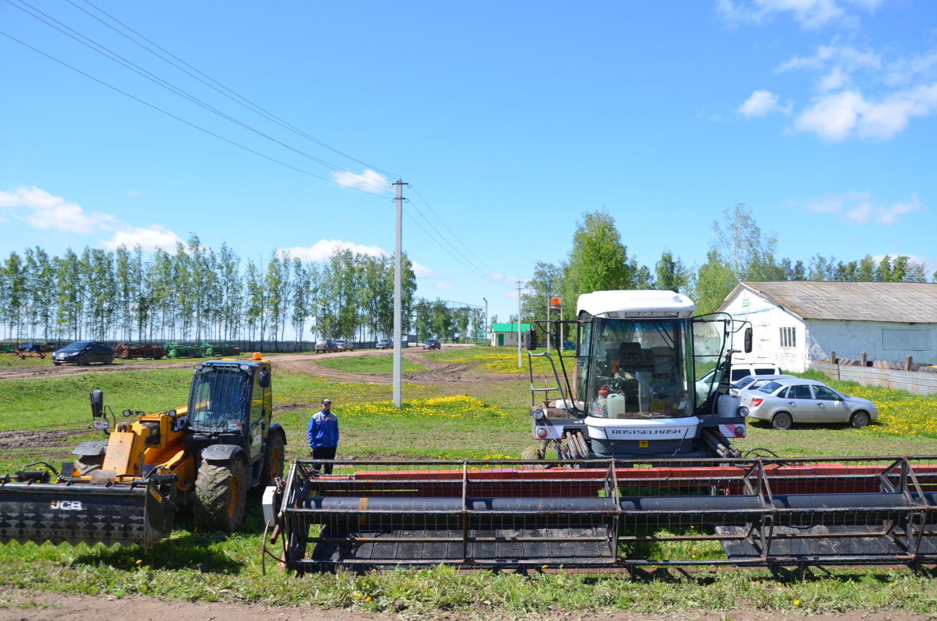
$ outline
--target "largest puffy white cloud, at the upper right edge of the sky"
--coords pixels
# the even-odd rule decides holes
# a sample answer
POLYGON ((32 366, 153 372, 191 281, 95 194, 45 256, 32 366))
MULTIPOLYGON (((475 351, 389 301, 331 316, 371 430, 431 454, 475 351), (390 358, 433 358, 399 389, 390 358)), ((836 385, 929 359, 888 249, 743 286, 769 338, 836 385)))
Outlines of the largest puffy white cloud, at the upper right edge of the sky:
POLYGON ((851 136, 888 140, 908 127, 913 116, 935 111, 937 83, 898 91, 877 101, 850 90, 812 98, 811 106, 796 118, 794 127, 832 142, 851 136))

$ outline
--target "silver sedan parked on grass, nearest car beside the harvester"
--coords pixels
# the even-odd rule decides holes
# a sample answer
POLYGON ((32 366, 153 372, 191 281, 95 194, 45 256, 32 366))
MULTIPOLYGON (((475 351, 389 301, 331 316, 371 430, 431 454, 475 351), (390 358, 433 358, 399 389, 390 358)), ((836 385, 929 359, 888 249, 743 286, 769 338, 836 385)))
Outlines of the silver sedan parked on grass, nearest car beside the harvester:
POLYGON ((739 393, 748 416, 787 430, 795 423, 849 423, 865 427, 878 420, 878 407, 868 399, 843 394, 816 380, 771 380, 755 390, 739 393))

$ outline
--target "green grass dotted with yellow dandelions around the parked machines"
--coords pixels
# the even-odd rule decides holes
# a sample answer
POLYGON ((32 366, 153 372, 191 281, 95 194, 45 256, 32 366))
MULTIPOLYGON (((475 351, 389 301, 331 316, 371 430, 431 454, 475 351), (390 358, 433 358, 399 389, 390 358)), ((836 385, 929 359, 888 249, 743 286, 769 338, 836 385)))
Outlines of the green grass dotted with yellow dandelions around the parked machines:
MULTIPOLYGON (((502 381, 501 371, 486 366, 504 361, 516 365, 513 352, 476 347, 425 356, 482 362, 477 371, 498 373, 498 381, 457 387, 408 384, 404 386, 405 407, 398 411, 391 405, 392 388, 388 385, 336 382, 275 371, 275 418, 288 432, 288 458, 307 454, 306 424, 323 397, 335 402, 340 420, 339 458, 503 459, 519 457, 524 447, 533 444, 526 378, 502 381)), ((369 357, 389 359, 346 359, 369 357)), ((71 429, 90 434, 90 390, 103 388, 105 401, 118 413, 124 407, 156 411, 185 402, 190 377, 189 369, 163 369, 5 381, 0 384, 0 431, 71 429)), ((788 432, 754 424, 749 426, 749 437, 738 444, 768 447, 787 456, 937 453, 937 439, 929 426, 929 421, 937 417, 934 398, 917 398, 884 388, 862 388, 866 392, 860 393, 855 386, 834 386, 879 402, 880 424, 862 430, 811 426, 788 432)), ((12 459, 3 462, 12 470, 12 466, 36 458, 60 461, 71 446, 84 438, 75 435, 51 446, 4 449, 3 456, 12 459)), ((629 576, 565 572, 463 574, 451 568, 427 568, 302 578, 268 570, 263 576, 261 531, 260 508, 255 499, 237 533, 196 533, 184 511, 171 538, 146 554, 136 548, 10 543, 0 546, 0 584, 113 597, 150 594, 160 598, 342 607, 361 612, 393 613, 392 606, 402 602, 406 606, 403 615, 412 617, 447 611, 499 617, 625 610, 673 611, 692 616, 736 608, 781 613, 932 613, 937 602, 937 573, 923 569, 825 568, 816 573, 702 570, 689 574, 659 569, 629 576)), ((718 546, 708 543, 692 545, 699 545, 692 552, 701 557, 721 553, 718 546)))

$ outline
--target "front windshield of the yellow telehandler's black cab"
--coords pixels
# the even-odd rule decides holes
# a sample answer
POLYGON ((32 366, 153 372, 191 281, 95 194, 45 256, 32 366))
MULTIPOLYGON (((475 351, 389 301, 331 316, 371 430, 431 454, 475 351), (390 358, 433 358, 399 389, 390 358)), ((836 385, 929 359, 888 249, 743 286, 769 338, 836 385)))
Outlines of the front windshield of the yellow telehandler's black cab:
POLYGON ((231 365, 206 366, 192 378, 189 428, 201 431, 227 429, 229 420, 240 420, 249 396, 250 372, 231 365))

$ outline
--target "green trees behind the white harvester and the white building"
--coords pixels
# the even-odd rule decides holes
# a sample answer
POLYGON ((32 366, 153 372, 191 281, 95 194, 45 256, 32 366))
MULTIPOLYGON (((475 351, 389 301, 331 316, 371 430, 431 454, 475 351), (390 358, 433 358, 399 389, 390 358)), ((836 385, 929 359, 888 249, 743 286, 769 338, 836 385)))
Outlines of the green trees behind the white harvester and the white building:
MULTIPOLYGON (((927 282, 926 266, 909 257, 870 254, 841 261, 821 253, 805 263, 778 257, 778 238, 763 233, 744 203, 723 212, 712 223, 706 262, 686 265, 664 249, 653 269, 638 263, 622 242, 615 219, 605 210, 587 212, 576 223, 572 248, 558 264, 537 262, 522 295, 523 321, 544 319, 547 299, 564 300, 565 319, 573 319, 580 294, 613 289, 659 289, 688 295, 697 314, 713 312, 740 280, 845 280, 927 282)), ((930 275, 937 282, 937 272, 930 275)), ((516 321, 516 315, 511 316, 516 321)))

